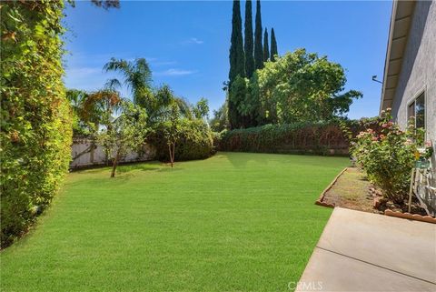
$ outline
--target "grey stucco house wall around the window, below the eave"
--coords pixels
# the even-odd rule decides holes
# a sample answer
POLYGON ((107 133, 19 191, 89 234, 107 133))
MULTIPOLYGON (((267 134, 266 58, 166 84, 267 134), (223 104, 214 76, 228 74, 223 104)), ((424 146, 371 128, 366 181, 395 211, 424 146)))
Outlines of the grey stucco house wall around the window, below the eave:
MULTIPOLYGON (((422 91, 426 98, 426 139, 436 144, 436 2, 417 1, 401 74, 392 104, 392 116, 407 126, 407 107, 422 91)), ((434 161, 433 161, 434 162, 434 161)))

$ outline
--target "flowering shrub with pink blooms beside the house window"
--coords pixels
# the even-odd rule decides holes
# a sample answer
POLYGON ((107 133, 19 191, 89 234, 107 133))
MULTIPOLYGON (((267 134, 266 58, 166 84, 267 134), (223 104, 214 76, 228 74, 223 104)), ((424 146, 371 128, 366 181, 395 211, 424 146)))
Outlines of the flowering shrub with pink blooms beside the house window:
POLYGON ((352 155, 383 196, 402 204, 409 192, 411 168, 417 152, 417 131, 401 131, 391 121, 390 111, 382 113, 379 129, 362 131, 352 143, 352 155))

